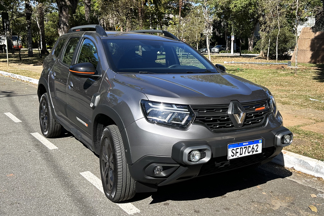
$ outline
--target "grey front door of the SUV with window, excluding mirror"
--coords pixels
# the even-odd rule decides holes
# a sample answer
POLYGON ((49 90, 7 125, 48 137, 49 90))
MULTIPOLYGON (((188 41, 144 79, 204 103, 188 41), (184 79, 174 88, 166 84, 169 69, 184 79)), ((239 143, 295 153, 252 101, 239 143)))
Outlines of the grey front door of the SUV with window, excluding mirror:
MULTIPOLYGON (((75 64, 90 62, 99 74, 100 64, 95 44, 88 38, 82 42, 75 64)), ((101 76, 102 77, 102 76, 101 76)), ((90 107, 92 96, 99 91, 102 78, 80 78, 70 73, 67 84, 67 114, 68 118, 79 126, 88 137, 91 135, 92 108, 90 107)))

